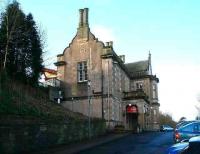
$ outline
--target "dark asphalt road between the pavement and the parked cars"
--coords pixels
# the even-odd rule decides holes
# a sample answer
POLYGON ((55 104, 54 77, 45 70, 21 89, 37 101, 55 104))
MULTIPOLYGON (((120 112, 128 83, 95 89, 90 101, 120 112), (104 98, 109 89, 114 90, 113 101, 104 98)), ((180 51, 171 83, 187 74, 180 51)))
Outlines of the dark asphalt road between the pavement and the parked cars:
POLYGON ((165 154, 172 144, 172 132, 131 134, 79 154, 165 154))

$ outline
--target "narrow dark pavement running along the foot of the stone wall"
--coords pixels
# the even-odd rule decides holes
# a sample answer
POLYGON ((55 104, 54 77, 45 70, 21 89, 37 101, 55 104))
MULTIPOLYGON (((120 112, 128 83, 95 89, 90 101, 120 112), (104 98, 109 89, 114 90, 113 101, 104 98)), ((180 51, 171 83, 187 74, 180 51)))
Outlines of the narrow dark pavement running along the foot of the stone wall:
POLYGON ((105 144, 125 136, 128 136, 130 133, 121 133, 121 134, 106 134, 104 136, 100 136, 97 138, 92 138, 87 141, 74 143, 70 145, 62 145, 60 147, 49 148, 48 150, 37 152, 37 154, 75 154, 79 153, 80 151, 84 151, 101 144, 105 144))

